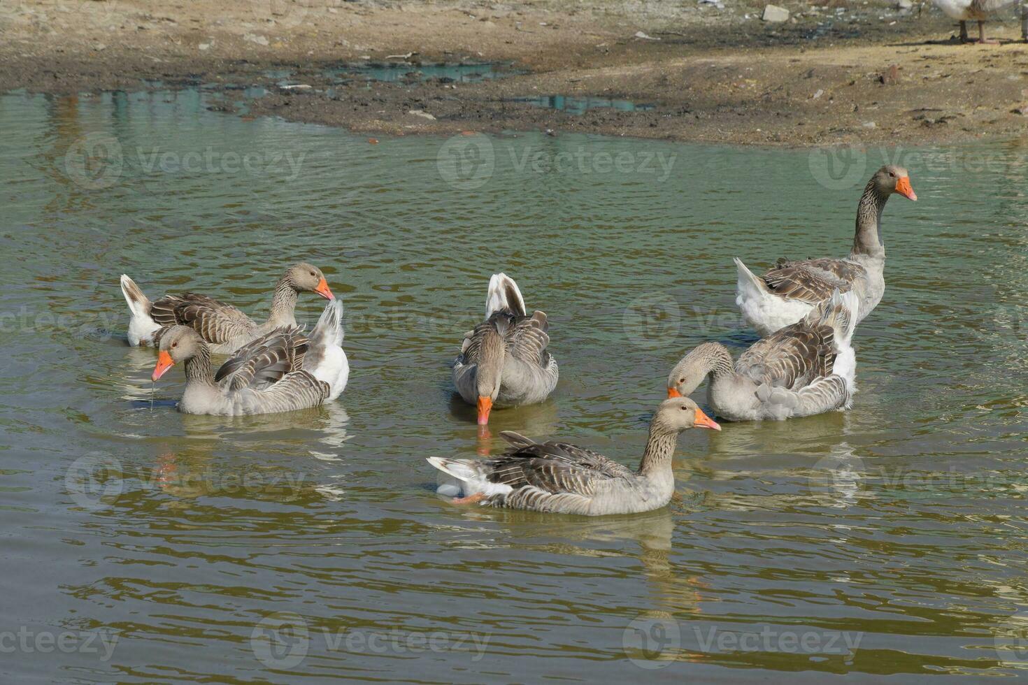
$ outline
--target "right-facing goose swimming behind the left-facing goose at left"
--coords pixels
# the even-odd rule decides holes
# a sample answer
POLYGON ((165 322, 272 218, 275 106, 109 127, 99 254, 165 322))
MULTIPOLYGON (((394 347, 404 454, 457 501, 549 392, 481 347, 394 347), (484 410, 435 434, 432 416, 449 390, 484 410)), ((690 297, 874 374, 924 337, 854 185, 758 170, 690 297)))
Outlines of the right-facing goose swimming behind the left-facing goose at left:
POLYGON ((211 345, 211 351, 231 354, 248 342, 283 326, 296 326, 296 297, 299 293, 317 293, 327 300, 334 299, 325 275, 316 266, 300 262, 286 269, 274 287, 271 314, 257 324, 230 304, 195 293, 166 295, 150 302, 139 286, 121 274, 121 293, 128 303, 128 344, 154 346, 172 326, 187 326, 211 345))

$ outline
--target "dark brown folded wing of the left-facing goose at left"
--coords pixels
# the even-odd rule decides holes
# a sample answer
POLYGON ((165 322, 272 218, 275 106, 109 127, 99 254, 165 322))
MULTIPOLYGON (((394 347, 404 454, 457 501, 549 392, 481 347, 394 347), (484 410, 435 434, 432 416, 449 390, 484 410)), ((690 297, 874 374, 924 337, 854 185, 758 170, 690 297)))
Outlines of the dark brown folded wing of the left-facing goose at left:
POLYGON ((224 380, 229 390, 266 388, 302 369, 308 346, 298 327, 280 327, 236 350, 221 365, 214 380, 224 380))

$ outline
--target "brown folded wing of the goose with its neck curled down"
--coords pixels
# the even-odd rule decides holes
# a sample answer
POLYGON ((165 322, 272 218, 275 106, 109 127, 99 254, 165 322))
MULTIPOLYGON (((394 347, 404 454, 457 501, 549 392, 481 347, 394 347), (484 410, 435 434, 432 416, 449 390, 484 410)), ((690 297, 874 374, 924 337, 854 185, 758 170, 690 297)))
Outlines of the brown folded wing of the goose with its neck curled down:
POLYGON ((832 328, 798 321, 754 343, 735 370, 758 385, 796 390, 831 375, 834 360, 832 328))

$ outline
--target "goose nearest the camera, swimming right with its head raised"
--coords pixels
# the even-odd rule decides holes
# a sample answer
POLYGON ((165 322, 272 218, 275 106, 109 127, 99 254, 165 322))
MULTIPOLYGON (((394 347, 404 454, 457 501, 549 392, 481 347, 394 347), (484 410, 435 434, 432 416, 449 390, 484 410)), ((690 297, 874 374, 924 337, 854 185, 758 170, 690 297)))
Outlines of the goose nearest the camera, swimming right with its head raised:
POLYGON ((678 433, 689 428, 721 430, 689 397, 661 403, 634 471, 575 445, 537 443, 509 430, 500 433, 512 446, 502 456, 487 460, 429 457, 428 461, 461 483, 465 496, 454 499, 455 503, 585 516, 637 513, 670 501, 674 445, 678 433))

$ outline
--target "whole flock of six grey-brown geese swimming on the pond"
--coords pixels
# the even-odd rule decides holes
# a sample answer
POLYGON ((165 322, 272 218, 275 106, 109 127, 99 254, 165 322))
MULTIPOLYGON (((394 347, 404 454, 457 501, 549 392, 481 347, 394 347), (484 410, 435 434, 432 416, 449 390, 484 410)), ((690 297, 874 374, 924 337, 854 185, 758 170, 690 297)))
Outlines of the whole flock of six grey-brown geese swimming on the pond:
MULTIPOLYGON (((856 358, 856 325, 885 292, 885 249, 879 229, 894 194, 916 200, 906 169, 887 165, 868 182, 857 205, 848 257, 779 260, 763 276, 735 260, 736 303, 763 337, 735 360, 720 343, 703 343, 671 370, 667 399, 650 423, 636 470, 562 442, 535 442, 516 432, 490 459, 429 457, 446 474, 440 492, 457 503, 579 515, 633 513, 665 506, 674 494, 671 461, 681 432, 721 426, 690 395, 704 380, 713 414, 728 421, 788 419, 848 409, 856 358)), ((184 368, 181 412, 240 416, 316 407, 343 391, 350 365, 342 350, 342 305, 310 264, 279 279, 268 319, 258 324, 232 305, 205 295, 166 295, 151 301, 126 275, 121 291, 132 311, 128 342, 156 347, 156 381, 184 368), (297 326, 300 293, 329 300, 309 334, 297 326), (211 354, 229 354, 215 371, 211 354)), ((546 399, 557 385, 549 324, 528 313, 517 283, 489 279, 482 322, 464 335, 452 365, 453 385, 486 425, 493 408, 546 399)))

